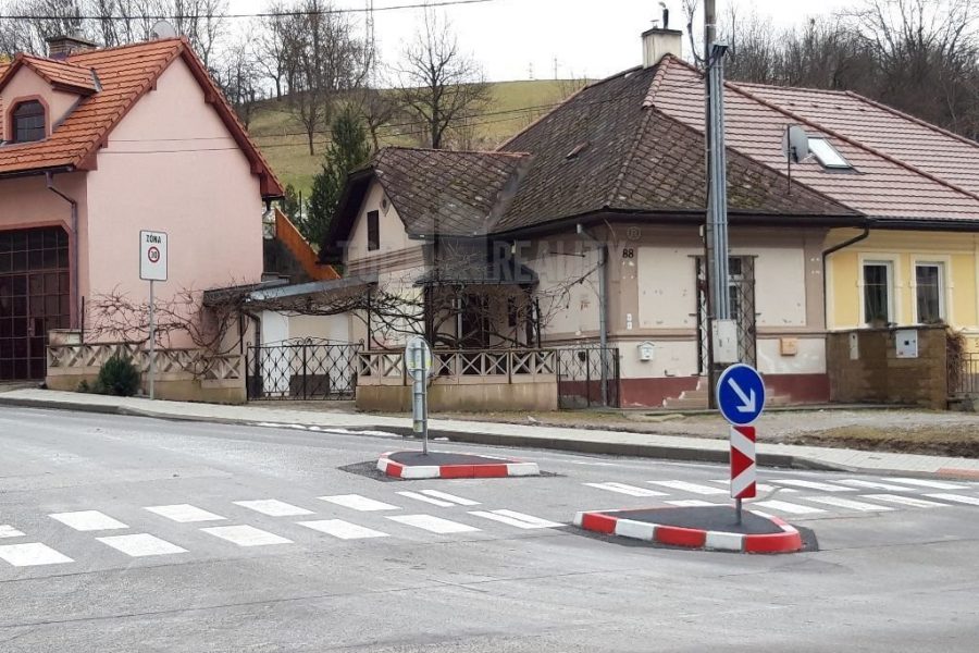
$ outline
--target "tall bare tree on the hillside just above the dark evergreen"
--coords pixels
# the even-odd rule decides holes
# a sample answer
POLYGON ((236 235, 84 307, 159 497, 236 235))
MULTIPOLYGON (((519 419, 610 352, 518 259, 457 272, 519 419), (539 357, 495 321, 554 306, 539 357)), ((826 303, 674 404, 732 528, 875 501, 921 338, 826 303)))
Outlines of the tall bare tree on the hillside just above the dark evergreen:
POLYGON ((360 88, 371 70, 369 44, 355 34, 344 14, 329 13, 330 0, 302 0, 286 24, 285 50, 295 71, 289 79, 289 112, 302 125, 310 156, 313 137, 325 128, 336 100, 360 88))

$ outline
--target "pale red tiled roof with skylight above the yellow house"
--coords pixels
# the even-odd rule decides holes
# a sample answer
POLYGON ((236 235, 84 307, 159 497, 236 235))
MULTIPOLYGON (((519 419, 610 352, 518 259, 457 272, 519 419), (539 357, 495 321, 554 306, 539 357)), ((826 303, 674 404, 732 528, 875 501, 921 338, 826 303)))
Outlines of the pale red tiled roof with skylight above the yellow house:
MULTIPOLYGON (((648 94, 656 108, 694 130, 704 128, 701 73, 673 58, 648 94)), ((730 149, 771 170, 785 169, 782 135, 801 124, 823 136, 853 171, 827 171, 815 160, 792 167, 792 177, 834 200, 878 219, 979 220, 979 180, 963 159, 976 146, 920 121, 848 94, 729 84, 724 91, 730 149)))

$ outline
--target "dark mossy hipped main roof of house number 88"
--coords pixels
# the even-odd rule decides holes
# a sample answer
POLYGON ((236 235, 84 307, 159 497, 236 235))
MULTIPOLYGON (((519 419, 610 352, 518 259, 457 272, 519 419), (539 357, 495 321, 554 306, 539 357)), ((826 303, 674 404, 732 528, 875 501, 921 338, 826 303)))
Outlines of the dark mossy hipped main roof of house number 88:
MULTIPOLYGON (((659 76, 637 69, 592 85, 504 145, 533 163, 497 231, 602 210, 704 211, 703 134, 643 106, 659 76)), ((735 151, 728 174, 732 213, 853 213, 803 184, 790 194, 782 174, 735 151)))

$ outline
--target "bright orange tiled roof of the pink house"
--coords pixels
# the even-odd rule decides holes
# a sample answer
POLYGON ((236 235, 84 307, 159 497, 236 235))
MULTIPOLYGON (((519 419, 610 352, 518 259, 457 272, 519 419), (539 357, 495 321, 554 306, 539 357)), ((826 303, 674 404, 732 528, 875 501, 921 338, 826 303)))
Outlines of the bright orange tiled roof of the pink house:
MULTIPOLYGON (((183 59, 224 122, 232 137, 251 163, 251 172, 260 178, 263 197, 282 196, 282 185, 258 147, 249 138, 234 110, 214 85, 203 64, 183 38, 160 39, 141 44, 87 50, 52 61, 18 56, 0 67, 2 88, 22 65, 28 65, 49 83, 83 88, 82 71, 94 71, 94 91, 84 97, 51 136, 35 143, 0 147, 0 176, 44 172, 47 170, 84 170, 98 153, 112 130, 157 83, 176 59, 183 59)), ((90 75, 89 75, 90 76, 90 75)), ((83 94, 84 95, 84 94, 83 94)))

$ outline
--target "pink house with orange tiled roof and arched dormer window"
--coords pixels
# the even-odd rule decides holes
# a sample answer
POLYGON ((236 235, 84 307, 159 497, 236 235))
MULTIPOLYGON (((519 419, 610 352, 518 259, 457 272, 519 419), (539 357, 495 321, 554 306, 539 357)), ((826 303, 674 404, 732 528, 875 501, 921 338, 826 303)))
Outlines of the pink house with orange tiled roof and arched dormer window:
POLYGON ((51 46, 0 64, 0 381, 44 378, 86 299, 146 296, 140 230, 169 234, 158 296, 259 282, 282 195, 186 40, 51 46))

